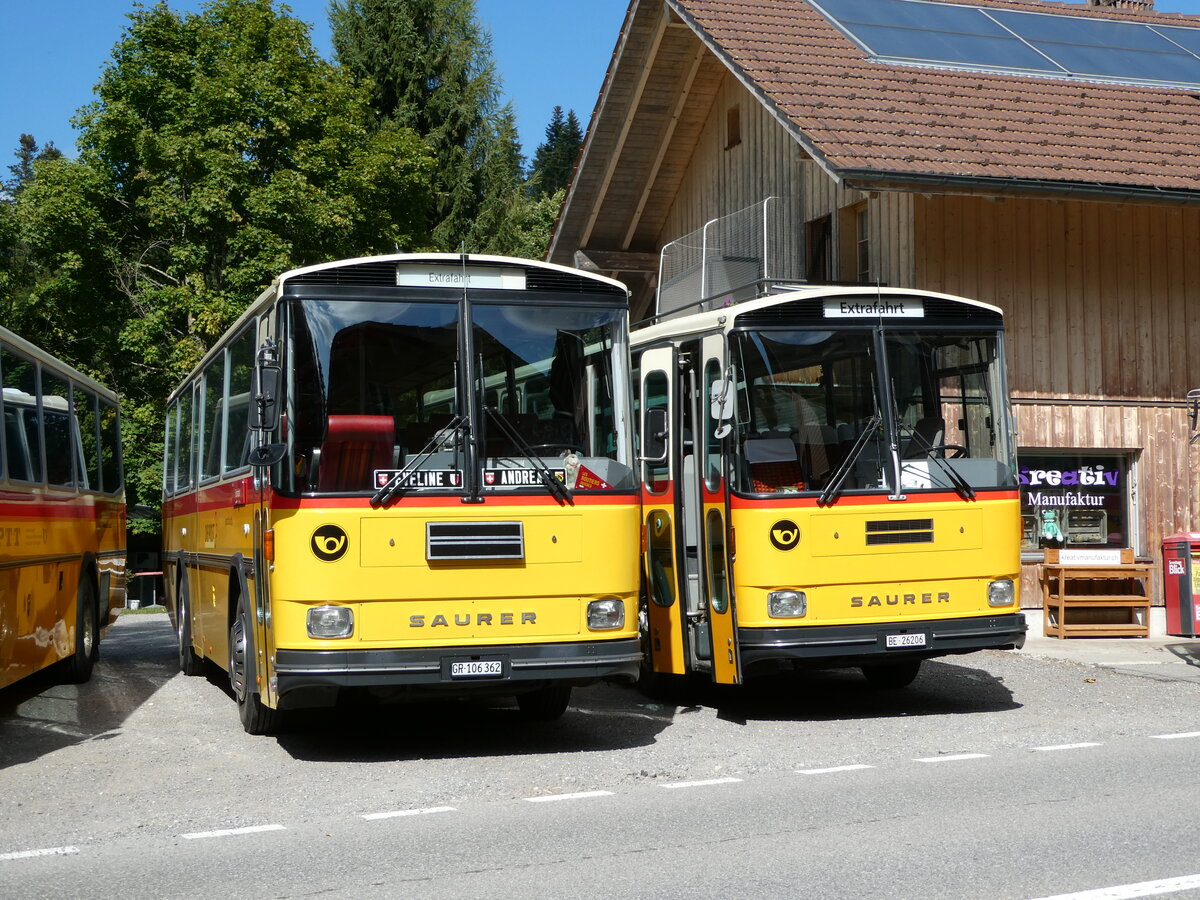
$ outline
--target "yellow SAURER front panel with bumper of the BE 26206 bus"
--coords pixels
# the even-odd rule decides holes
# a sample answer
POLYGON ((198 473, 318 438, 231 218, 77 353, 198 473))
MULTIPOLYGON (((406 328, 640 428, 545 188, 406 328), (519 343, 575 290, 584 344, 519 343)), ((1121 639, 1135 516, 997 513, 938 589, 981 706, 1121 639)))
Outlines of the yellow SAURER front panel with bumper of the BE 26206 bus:
POLYGON ((1019 646, 1016 503, 829 510, 738 502, 733 578, 744 655, 751 662, 773 654, 865 660, 889 650, 931 656, 1019 646), (1007 593, 991 588, 1003 582, 1007 593), (803 592, 803 614, 772 616, 770 595, 781 590, 803 592), (997 599, 1006 602, 994 605, 997 599), (889 643, 889 634, 906 631, 913 643, 889 643))

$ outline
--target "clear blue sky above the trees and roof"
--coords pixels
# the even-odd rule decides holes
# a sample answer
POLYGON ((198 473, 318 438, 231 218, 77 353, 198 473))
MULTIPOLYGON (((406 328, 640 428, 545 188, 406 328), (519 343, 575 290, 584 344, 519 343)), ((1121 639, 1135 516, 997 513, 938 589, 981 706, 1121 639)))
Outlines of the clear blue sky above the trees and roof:
MULTIPOLYGON (((203 0, 168 2, 194 11, 203 0)), ((313 43, 330 56, 328 0, 288 6, 313 26, 313 43)), ((587 128, 628 1, 476 0, 476 7, 492 32, 526 156, 544 139, 554 106, 574 109, 587 128)), ((7 176, 23 132, 74 152, 71 116, 92 100, 131 8, 132 0, 0 0, 0 178, 7 176)), ((1157 8, 1200 14, 1200 0, 1158 0, 1157 8)))

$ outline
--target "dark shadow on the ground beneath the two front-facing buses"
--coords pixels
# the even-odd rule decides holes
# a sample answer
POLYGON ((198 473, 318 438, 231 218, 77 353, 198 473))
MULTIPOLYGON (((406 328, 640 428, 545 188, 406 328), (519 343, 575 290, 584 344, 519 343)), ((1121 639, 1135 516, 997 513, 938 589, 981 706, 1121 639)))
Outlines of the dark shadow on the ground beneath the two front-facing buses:
POLYGON ((643 746, 676 718, 704 708, 722 721, 748 725, 967 715, 1020 706, 1002 679, 984 670, 926 661, 902 690, 871 688, 857 668, 778 674, 737 686, 680 679, 654 696, 625 685, 577 688, 570 708, 552 722, 528 721, 515 703, 499 700, 342 703, 292 713, 277 739, 293 757, 314 762, 473 758, 643 746))

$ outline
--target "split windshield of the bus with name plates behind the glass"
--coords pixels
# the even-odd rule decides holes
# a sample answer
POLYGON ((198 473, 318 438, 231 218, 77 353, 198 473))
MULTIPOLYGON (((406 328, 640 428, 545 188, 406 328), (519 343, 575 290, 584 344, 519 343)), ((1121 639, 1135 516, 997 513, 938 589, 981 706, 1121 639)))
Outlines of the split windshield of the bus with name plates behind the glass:
POLYGON ((289 316, 290 490, 374 492, 403 472, 406 490, 462 491, 468 440, 485 492, 541 490, 546 468, 569 487, 632 487, 622 308, 474 302, 473 396, 455 302, 306 299, 289 316))

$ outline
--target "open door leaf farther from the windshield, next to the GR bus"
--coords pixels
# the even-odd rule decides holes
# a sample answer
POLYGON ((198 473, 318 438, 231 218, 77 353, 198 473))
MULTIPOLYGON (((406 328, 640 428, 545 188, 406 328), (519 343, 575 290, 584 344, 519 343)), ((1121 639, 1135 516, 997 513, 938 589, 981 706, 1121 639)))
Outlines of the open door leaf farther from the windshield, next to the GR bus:
POLYGON ((676 349, 654 347, 642 353, 641 383, 641 467, 642 523, 646 528, 643 554, 648 652, 650 668, 665 674, 684 674, 683 614, 679 602, 677 566, 676 470, 679 440, 676 349))

